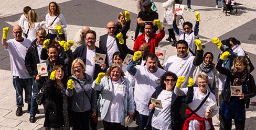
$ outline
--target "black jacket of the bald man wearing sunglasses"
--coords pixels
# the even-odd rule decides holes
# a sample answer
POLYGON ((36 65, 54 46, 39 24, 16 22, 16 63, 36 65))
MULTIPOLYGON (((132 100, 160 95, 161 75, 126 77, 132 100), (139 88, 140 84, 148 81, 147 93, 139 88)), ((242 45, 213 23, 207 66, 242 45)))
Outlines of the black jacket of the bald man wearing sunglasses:
MULTIPOLYGON (((124 27, 122 29, 116 29, 115 35, 118 34, 119 32, 122 32, 123 34, 123 39, 124 39, 124 44, 120 44, 119 40, 115 38, 116 44, 118 45, 118 50, 120 51, 121 55, 125 57, 127 53, 133 55, 134 51, 129 49, 126 45, 126 33, 130 29, 130 22, 125 22, 124 27)), ((100 49, 106 52, 106 41, 108 40, 108 34, 104 34, 103 36, 100 37, 100 49)), ((112 55, 107 55, 107 56, 112 56, 112 55)))

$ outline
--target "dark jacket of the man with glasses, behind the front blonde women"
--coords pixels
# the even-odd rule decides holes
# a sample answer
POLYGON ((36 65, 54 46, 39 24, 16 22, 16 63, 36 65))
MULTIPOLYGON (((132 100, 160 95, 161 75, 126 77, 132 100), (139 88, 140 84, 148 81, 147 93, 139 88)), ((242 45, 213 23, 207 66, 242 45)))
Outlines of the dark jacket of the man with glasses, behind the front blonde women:
MULTIPOLYGON (((79 46, 76 50, 74 50, 73 52, 73 56, 74 59, 80 57, 83 60, 83 63, 86 65, 86 52, 87 52, 87 47, 86 46, 79 46)), ((101 54, 106 54, 105 51, 101 50, 100 48, 98 48, 97 46, 95 46, 95 52, 97 53, 101 53, 101 54)), ((95 64, 94 66, 94 75, 93 75, 93 80, 95 80, 98 76, 99 73, 101 72, 106 72, 106 69, 108 69, 109 67, 109 63, 108 63, 108 58, 105 58, 105 62, 106 64, 106 68, 104 70, 101 69, 100 65, 95 64)))

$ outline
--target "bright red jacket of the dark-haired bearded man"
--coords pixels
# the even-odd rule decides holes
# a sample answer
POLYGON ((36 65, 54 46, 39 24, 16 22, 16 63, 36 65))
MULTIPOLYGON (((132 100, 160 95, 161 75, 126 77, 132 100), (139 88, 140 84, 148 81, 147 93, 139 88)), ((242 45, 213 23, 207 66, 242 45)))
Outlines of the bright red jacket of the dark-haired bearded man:
MULTIPOLYGON (((164 29, 160 30, 158 34, 152 33, 150 39, 148 39, 148 44, 150 45, 150 53, 155 53, 155 48, 158 47, 158 44, 165 36, 164 29)), ((140 46, 146 43, 145 32, 141 36, 138 36, 133 45, 133 51, 140 51, 140 46)))

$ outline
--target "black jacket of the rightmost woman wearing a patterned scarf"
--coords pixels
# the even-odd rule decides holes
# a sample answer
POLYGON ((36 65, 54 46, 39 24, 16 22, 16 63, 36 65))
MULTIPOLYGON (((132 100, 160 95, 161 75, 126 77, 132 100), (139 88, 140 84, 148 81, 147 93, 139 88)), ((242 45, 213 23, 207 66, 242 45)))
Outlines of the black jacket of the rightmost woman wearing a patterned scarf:
MULTIPOLYGON (((223 100, 226 102, 229 102, 231 99, 230 84, 233 83, 234 78, 236 77, 232 74, 231 70, 225 67, 222 67, 222 64, 223 64, 223 60, 220 59, 216 65, 216 69, 219 71, 219 73, 227 76, 224 90, 222 91, 221 94, 222 94, 223 100)), ((247 92, 246 93, 243 92, 243 93, 244 93, 244 100, 246 100, 246 108, 248 109, 250 104, 250 98, 256 95, 255 81, 253 76, 250 73, 248 73, 246 77, 246 87, 247 87, 247 92)))

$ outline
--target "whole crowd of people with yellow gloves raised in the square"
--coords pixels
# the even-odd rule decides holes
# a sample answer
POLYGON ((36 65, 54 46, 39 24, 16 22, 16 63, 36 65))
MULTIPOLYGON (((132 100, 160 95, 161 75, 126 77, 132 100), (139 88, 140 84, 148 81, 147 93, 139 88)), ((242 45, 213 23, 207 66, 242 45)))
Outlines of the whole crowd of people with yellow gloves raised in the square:
MULTIPOLYGON (((188 2, 188 10, 194 11, 188 2)), ((16 116, 23 114, 24 89, 29 121, 36 122, 38 104, 42 104, 45 129, 72 126, 94 130, 99 116, 104 129, 111 130, 128 129, 129 120, 135 120, 139 130, 214 130, 215 115, 220 129, 231 129, 232 119, 236 129, 244 129, 246 108, 256 95, 250 58, 236 38, 214 38, 212 44, 221 50, 215 65, 214 54, 204 53, 199 40, 199 13, 195 14, 194 31, 188 21, 183 29, 178 28, 182 17, 174 5, 181 3, 163 3, 162 26, 153 1, 137 0, 133 49, 126 45, 129 11, 106 24, 108 33, 100 36, 99 46, 95 46, 97 34, 87 26, 78 30, 72 41, 66 40, 63 28, 67 23, 56 2, 49 3, 45 23, 38 21, 35 9, 26 6, 19 25, 13 27, 14 39, 7 40, 8 27, 2 38, 16 90, 16 116), (169 34, 166 40, 173 42, 177 54, 161 65, 155 49, 165 37, 165 29, 169 34), (97 63, 99 54, 105 58, 97 63), (129 55, 133 57, 126 65, 129 55), (39 64, 46 65, 46 75, 39 64), (236 96, 232 87, 240 91, 236 96)))

